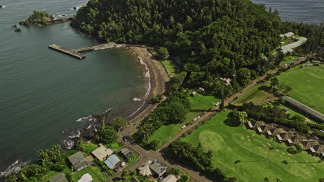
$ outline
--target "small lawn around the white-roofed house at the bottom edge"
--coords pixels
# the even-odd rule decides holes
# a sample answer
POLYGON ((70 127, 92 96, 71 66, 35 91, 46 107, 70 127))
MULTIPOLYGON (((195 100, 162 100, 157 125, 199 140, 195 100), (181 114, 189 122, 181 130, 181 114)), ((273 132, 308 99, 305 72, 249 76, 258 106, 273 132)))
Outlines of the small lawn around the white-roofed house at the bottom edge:
POLYGON ((92 176, 93 182, 108 181, 107 176, 100 171, 100 168, 95 166, 89 166, 84 168, 80 172, 72 175, 72 181, 78 181, 84 174, 89 173, 92 176))

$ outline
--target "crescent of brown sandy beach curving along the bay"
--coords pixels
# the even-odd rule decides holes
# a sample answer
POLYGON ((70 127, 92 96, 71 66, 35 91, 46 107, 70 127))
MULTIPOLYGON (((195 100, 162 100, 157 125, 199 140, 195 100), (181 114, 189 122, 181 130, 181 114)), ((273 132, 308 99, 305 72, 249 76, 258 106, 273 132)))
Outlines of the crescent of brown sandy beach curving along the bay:
POLYGON ((150 83, 151 89, 150 94, 148 94, 145 99, 144 105, 136 113, 132 114, 128 118, 129 123, 136 122, 140 119, 143 119, 147 114, 152 112, 156 108, 157 104, 152 104, 150 101, 154 98, 156 94, 163 94, 165 92, 165 83, 169 81, 169 77, 163 65, 160 61, 152 59, 152 54, 147 50, 147 48, 141 48, 136 46, 128 47, 129 50, 135 52, 138 57, 143 59, 143 62, 146 64, 150 72, 150 83))

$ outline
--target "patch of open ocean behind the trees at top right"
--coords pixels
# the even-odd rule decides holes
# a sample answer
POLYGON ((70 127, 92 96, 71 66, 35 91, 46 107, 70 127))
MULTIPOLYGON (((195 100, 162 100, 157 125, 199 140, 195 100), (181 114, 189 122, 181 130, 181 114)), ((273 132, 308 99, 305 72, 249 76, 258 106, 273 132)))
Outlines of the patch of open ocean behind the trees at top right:
POLYGON ((324 21, 323 0, 252 0, 264 3, 267 9, 278 10, 282 21, 320 24, 324 21))

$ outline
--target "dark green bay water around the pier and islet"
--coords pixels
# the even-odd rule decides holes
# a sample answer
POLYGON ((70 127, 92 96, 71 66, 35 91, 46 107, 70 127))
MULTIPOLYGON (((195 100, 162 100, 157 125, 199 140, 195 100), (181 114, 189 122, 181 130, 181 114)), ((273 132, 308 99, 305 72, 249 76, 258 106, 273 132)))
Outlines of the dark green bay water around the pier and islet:
POLYGON ((112 114, 127 117, 143 104, 134 98, 147 92, 145 66, 129 50, 84 52, 86 59, 79 60, 47 48, 53 43, 70 49, 96 44, 69 23, 18 25, 33 10, 71 17, 73 7, 85 3, 0 1, 6 6, 0 8, 0 172, 17 160, 33 161, 37 150, 65 139, 66 130, 87 128, 91 114, 112 108, 112 114), (14 24, 22 31, 14 32, 14 24))

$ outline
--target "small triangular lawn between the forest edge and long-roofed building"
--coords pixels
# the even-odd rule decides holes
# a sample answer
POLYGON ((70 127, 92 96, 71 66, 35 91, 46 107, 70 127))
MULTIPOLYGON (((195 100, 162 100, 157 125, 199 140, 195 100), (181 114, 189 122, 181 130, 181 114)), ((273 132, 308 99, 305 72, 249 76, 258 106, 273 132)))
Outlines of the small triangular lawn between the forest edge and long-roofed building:
POLYGON ((271 95, 260 89, 264 87, 264 84, 256 85, 254 88, 251 88, 249 92, 242 94, 234 103, 247 103, 250 101, 262 101, 265 99, 271 99, 271 95))

